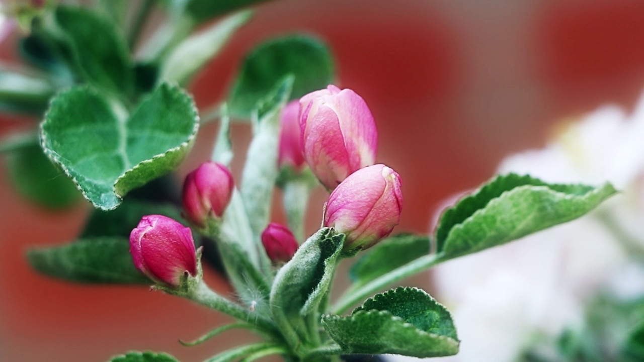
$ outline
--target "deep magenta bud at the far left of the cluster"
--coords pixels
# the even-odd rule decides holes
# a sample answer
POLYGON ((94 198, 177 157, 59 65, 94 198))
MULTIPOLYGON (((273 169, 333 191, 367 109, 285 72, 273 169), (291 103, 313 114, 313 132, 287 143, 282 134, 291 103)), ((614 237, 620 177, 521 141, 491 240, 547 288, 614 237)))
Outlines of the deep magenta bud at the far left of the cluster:
POLYGON ((135 267, 156 283, 178 287, 185 272, 197 274, 190 228, 166 216, 143 216, 129 234, 129 252, 135 267))

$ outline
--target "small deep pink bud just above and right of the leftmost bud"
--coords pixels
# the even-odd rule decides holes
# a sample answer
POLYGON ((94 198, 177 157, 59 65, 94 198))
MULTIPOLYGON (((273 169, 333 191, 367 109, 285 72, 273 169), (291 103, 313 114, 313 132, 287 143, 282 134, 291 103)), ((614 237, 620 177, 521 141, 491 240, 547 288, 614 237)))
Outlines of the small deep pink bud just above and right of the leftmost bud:
POLYGON ((217 162, 204 162, 185 177, 185 217, 195 225, 205 226, 212 214, 220 218, 231 201, 234 180, 228 167, 217 162))

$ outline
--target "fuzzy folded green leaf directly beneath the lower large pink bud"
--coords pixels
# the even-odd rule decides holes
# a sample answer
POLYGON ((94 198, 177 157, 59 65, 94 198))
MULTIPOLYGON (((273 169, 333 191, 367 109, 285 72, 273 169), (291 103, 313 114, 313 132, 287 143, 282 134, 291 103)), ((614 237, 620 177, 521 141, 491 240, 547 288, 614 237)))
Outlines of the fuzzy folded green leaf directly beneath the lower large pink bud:
POLYGON ((327 295, 345 234, 325 227, 303 243, 275 276, 270 307, 279 323, 298 330, 302 316, 315 312, 327 295))

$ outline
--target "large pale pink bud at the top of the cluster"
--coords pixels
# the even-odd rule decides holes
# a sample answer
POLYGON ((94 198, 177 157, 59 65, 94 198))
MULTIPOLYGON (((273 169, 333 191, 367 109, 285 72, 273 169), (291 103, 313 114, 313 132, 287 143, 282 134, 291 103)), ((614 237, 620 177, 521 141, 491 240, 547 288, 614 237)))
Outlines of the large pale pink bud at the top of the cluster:
POLYGON ((308 93, 299 104, 304 157, 327 189, 374 164, 378 133, 362 97, 330 85, 308 93))

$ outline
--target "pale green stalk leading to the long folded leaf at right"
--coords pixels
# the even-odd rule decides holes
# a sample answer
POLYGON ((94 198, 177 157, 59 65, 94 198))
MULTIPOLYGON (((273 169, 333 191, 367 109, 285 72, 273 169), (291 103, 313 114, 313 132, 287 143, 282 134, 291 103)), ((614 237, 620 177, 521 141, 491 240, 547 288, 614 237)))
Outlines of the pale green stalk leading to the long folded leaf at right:
POLYGON ((388 272, 387 274, 384 274, 379 278, 375 278, 362 287, 349 289, 337 301, 331 312, 334 314, 343 314, 347 309, 349 309, 359 301, 365 300, 367 297, 372 296, 378 291, 381 291, 388 285, 395 283, 396 281, 403 280, 404 278, 408 278, 419 272, 430 269, 430 267, 433 267, 434 265, 442 261, 440 260, 441 256, 442 254, 429 254, 421 256, 420 258, 413 260, 412 262, 406 263, 402 267, 393 269, 393 271, 388 272))

